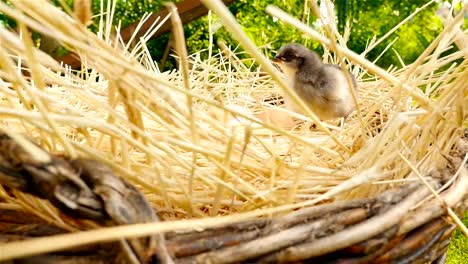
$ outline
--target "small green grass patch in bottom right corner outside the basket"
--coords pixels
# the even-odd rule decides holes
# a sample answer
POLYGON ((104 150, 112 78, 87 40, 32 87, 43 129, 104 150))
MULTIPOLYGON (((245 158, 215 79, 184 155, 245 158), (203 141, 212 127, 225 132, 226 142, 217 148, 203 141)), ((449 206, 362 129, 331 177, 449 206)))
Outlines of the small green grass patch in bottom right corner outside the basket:
MULTIPOLYGON (((468 226, 468 212, 462 219, 465 226, 468 226)), ((452 241, 447 252, 446 264, 468 263, 468 238, 463 236, 460 230, 455 230, 452 241)))

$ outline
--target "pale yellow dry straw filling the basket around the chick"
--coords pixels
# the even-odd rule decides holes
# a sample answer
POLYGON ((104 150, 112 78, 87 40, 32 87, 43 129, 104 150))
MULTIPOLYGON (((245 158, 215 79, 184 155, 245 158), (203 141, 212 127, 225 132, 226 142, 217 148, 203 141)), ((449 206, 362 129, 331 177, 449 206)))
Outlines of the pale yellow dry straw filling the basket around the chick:
MULTIPOLYGON (((374 197, 401 183, 424 181, 447 164, 445 157, 467 126, 463 12, 446 21, 414 63, 386 71, 349 50, 335 25, 322 34, 268 7, 269 14, 335 52, 327 59, 357 74, 359 111, 337 126, 320 122, 292 93, 220 1, 202 2, 261 67, 247 68, 225 45, 213 49, 208 60, 186 56, 180 21, 172 16, 181 68, 160 72, 146 37, 135 40, 133 50, 121 42, 111 27, 110 4, 95 35, 48 1, 14 1, 14 7, 0 2, 0 12, 20 29, 17 34, 0 28, 1 128, 23 133, 48 151, 108 164, 137 185, 166 220, 3 244, 0 260, 374 197), (79 54, 82 71, 34 48, 30 30, 79 54), (452 45, 459 51, 443 55, 452 45), (366 74, 370 80, 364 80, 366 74), (306 110, 306 116, 298 115, 305 123, 296 129, 256 117, 266 109, 281 111, 265 103, 281 91, 306 110), (317 128, 310 129, 310 121, 317 128), (224 217, 200 219, 209 216, 224 217), (191 218, 196 219, 184 220, 191 218)), ((19 192, 0 187, 0 199, 0 206, 21 206, 68 230, 90 227, 66 222, 48 202, 19 192)))

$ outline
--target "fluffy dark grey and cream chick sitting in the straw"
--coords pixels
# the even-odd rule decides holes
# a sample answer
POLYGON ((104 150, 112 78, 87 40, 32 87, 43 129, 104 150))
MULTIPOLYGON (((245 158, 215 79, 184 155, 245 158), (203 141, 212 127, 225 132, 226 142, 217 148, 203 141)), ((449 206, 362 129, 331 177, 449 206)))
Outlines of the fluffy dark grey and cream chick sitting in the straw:
MULTIPOLYGON (((356 81, 350 72, 343 72, 338 65, 324 64, 317 53, 296 44, 286 44, 272 60, 277 64, 297 95, 321 120, 347 117, 355 104, 345 74, 349 74, 353 87, 356 81)), ((285 96, 286 107, 300 112, 299 107, 285 96)))

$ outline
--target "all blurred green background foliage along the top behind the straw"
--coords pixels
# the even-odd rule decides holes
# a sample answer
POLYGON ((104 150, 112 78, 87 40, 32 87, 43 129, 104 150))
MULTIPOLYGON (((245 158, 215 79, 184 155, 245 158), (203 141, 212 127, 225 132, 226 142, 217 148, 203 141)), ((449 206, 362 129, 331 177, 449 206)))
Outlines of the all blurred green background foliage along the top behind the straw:
MULTIPOLYGON (((6 0, 0 0, 6 1, 6 0)), ((173 2, 179 2, 176 0, 173 2)), ((58 0, 53 0, 59 5, 58 0)), ((72 7, 73 0, 62 0, 72 7)), ((111 0, 94 0, 93 13, 100 14, 106 11, 111 0), (104 7, 101 9, 101 1, 104 7)), ((143 14, 158 11, 163 7, 163 1, 160 0, 117 0, 114 13, 114 23, 119 21, 122 27, 141 19, 143 14)), ((274 52, 285 43, 298 42, 307 47, 322 52, 319 43, 307 38, 297 29, 288 26, 281 21, 277 21, 265 12, 268 4, 274 4, 304 23, 317 29, 316 17, 309 12, 308 6, 304 0, 237 0, 229 6, 229 10, 241 24, 244 31, 257 44, 264 49, 268 56, 273 56, 274 52)), ((345 21, 350 21, 351 34, 348 40, 348 47, 357 53, 365 50, 369 41, 376 36, 383 36, 400 21, 414 12, 418 7, 427 3, 427 0, 409 0, 409 1, 384 1, 384 0, 335 0, 335 9, 339 18, 340 30, 344 30, 345 21)), ((431 41, 442 30, 442 23, 437 16, 436 11, 439 4, 432 4, 417 16, 412 18, 407 24, 403 25, 391 37, 383 41, 374 48, 366 57, 370 60, 376 59, 386 48, 386 46, 395 38, 398 40, 393 44, 377 62, 382 67, 390 65, 402 66, 414 61, 419 54, 431 43, 431 41), (401 57, 401 61, 399 57, 401 57)), ((213 45, 216 47, 218 40, 222 40, 232 47, 237 46, 237 42, 232 39, 230 34, 220 26, 215 16, 212 17, 213 45)), ((95 16, 94 23, 90 26, 93 31, 98 30, 99 16, 95 16)), ((14 22, 0 14, 0 24, 14 27, 14 22)), ((465 24, 466 19, 465 19, 465 24)), ((184 27, 185 37, 189 53, 202 51, 200 56, 207 58, 209 47, 209 26, 208 17, 204 16, 193 21, 184 27), (203 51, 205 50, 205 51, 203 51)), ((153 55, 153 59, 159 61, 169 41, 169 35, 163 35, 153 39, 148 43, 148 48, 153 55)), ((453 52, 449 51, 449 52, 453 52)), ((172 64, 169 64, 171 66, 172 64)))

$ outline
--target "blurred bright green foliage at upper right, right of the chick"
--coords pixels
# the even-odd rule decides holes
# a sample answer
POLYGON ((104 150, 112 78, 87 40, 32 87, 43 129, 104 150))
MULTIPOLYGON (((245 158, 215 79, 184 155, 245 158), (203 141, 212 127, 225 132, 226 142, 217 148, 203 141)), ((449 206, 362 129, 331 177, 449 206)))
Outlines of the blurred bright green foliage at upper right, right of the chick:
MULTIPOLYGON (((376 36, 378 39, 385 35, 385 33, 428 1, 360 0, 353 2, 355 2, 355 6, 350 14, 351 37, 348 47, 357 53, 361 53, 365 50, 366 43, 373 36, 376 36)), ((402 66, 397 53, 404 64, 413 62, 442 31, 442 22, 436 14, 438 7, 437 4, 426 7, 426 9, 400 27, 392 36, 369 52, 367 57, 374 60, 384 51, 390 42, 398 38, 393 44, 392 49, 388 50, 377 64, 383 67, 390 65, 402 66)))

